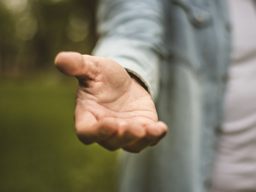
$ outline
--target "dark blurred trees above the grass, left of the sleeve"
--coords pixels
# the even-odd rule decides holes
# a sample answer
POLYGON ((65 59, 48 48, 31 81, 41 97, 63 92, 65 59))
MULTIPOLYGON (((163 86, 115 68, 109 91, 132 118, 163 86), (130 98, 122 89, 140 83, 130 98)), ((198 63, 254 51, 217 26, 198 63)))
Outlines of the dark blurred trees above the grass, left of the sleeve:
POLYGON ((90 0, 1 0, 0 73, 52 66, 60 51, 90 54, 97 40, 90 0))

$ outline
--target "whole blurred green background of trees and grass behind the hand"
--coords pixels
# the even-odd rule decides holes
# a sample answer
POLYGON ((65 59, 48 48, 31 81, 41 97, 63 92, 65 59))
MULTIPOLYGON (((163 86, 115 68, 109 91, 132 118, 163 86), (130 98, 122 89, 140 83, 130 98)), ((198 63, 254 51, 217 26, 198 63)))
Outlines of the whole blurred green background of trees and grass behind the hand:
POLYGON ((90 54, 90 0, 0 0, 0 191, 112 192, 116 156, 74 129, 77 80, 53 65, 60 51, 90 54))

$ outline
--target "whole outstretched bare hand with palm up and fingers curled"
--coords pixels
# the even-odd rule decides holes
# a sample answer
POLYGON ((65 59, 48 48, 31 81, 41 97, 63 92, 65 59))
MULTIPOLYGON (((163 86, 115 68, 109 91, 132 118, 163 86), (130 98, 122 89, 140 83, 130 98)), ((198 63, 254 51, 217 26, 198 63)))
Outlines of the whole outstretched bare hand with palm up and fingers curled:
POLYGON ((140 152, 167 133, 158 121, 148 92, 114 60, 77 52, 60 52, 56 67, 76 76, 75 127, 84 144, 140 152))

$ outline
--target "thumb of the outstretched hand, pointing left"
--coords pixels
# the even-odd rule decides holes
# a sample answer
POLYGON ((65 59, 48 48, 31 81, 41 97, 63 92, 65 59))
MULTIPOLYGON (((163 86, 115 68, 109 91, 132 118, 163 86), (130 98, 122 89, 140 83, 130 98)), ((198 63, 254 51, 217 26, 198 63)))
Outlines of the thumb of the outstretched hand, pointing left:
POLYGON ((68 76, 82 76, 88 73, 84 57, 78 52, 60 52, 55 58, 55 66, 68 76))

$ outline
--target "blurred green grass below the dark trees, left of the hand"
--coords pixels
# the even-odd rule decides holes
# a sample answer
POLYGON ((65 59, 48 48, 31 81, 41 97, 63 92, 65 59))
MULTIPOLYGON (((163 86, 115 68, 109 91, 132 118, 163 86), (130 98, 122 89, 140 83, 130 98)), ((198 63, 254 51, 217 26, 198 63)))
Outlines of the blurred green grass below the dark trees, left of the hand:
POLYGON ((1 192, 112 192, 117 152, 83 145, 73 120, 76 79, 0 80, 1 192))

